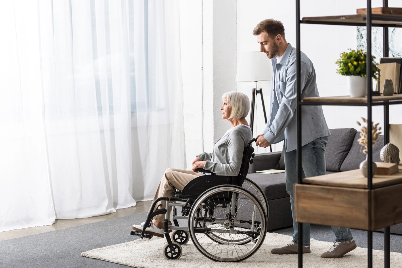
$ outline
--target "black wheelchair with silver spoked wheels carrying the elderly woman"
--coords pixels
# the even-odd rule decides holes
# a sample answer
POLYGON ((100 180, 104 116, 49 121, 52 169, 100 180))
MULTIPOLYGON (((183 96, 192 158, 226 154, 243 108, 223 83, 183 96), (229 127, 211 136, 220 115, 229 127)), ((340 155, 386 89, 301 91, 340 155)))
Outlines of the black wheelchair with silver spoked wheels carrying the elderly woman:
POLYGON ((131 235, 152 238, 144 233, 153 217, 165 214, 164 235, 167 243, 163 255, 168 260, 176 260, 182 255, 181 245, 189 239, 207 258, 221 262, 240 262, 249 258, 263 244, 267 233, 269 215, 268 201, 252 180, 246 178, 249 164, 253 162, 252 139, 244 147, 242 164, 238 176, 218 176, 202 168, 198 172, 211 173, 191 180, 183 190, 176 191, 171 198, 157 198, 143 225, 142 232, 131 231, 131 235), (156 204, 164 200, 162 204, 156 204), (174 226, 168 225, 169 206, 174 226), (177 215, 181 207, 181 215, 177 215), (177 219, 188 220, 188 227, 178 225, 177 219), (173 230, 171 236, 169 231, 173 230))

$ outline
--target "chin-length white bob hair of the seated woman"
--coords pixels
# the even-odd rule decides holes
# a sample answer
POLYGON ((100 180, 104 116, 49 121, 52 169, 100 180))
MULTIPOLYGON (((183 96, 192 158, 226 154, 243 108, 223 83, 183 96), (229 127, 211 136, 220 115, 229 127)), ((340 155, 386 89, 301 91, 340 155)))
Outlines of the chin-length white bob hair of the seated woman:
POLYGON ((222 96, 222 101, 225 99, 231 108, 230 117, 228 119, 239 120, 248 115, 250 100, 246 94, 236 91, 226 92, 222 96))

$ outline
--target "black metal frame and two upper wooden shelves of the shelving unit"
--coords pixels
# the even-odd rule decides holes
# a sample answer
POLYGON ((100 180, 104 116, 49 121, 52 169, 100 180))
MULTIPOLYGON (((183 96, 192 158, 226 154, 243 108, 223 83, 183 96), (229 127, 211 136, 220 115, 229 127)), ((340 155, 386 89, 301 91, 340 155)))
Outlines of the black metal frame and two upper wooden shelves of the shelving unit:
MULTIPOLYGON (((388 0, 383 0, 383 7, 388 7, 388 0)), ((402 94, 394 95, 394 98, 384 98, 383 96, 372 96, 371 83, 371 64, 367 64, 367 98, 350 98, 330 97, 330 98, 306 98, 301 99, 301 84, 300 84, 300 24, 320 24, 320 25, 350 25, 350 26, 365 26, 367 27, 367 63, 371 55, 371 27, 383 27, 384 37, 384 57, 388 57, 388 27, 402 27, 402 16, 379 15, 371 14, 371 0, 367 0, 367 13, 346 16, 327 16, 327 17, 312 17, 303 18, 300 20, 300 0, 296 0, 296 51, 297 51, 297 163, 301 163, 301 106, 303 105, 347 105, 347 106, 367 106, 367 121, 372 121, 371 108, 372 106, 384 106, 384 145, 390 142, 390 124, 389 124, 389 106, 392 104, 402 104, 402 94), (382 98, 379 98, 382 97, 382 98)), ((373 174, 372 174, 372 133, 371 124, 367 124, 368 134, 368 167, 367 167, 367 190, 371 193, 373 190, 373 174)), ((302 184, 301 164, 297 165, 297 183, 302 184)), ((369 196, 370 196, 369 193, 369 196)), ((368 219, 371 225, 371 199, 368 200, 368 219)), ((295 201, 296 202, 296 201, 295 201)), ((303 250, 300 241, 303 241, 302 223, 298 223, 298 267, 303 267, 303 250)), ((373 266, 373 234, 372 230, 367 230, 367 248, 368 261, 367 266, 373 266)), ((390 227, 384 228, 384 267, 390 267, 390 227)))

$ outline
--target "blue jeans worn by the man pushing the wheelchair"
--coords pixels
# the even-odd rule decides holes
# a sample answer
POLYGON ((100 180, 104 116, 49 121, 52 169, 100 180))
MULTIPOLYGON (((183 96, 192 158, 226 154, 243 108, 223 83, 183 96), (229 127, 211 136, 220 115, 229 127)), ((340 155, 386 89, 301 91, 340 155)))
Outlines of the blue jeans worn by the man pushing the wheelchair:
MULTIPOLYGON (((328 143, 328 136, 318 138, 301 147, 301 162, 303 178, 314 177, 326 174, 325 165, 325 147, 328 143)), ((285 179, 286 190, 290 195, 290 205, 293 216, 293 242, 297 243, 297 223, 295 222, 293 184, 297 183, 297 150, 285 152, 285 179)), ((350 241, 353 239, 350 228, 332 227, 332 231, 336 236, 336 242, 350 241)), ((303 245, 310 245, 310 223, 303 223, 303 245)))

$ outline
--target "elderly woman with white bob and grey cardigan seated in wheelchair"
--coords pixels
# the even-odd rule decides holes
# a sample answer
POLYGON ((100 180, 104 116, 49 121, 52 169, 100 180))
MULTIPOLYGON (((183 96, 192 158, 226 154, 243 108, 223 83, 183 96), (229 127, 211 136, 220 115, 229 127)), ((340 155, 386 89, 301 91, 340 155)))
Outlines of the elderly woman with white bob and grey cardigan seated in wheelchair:
MULTIPOLYGON (((222 119, 228 120, 232 127, 215 143, 212 153, 197 155, 192 163, 193 171, 168 168, 160 180, 154 200, 162 196, 172 197, 176 189, 183 190, 189 181, 203 175, 195 171, 197 168, 204 168, 217 175, 238 175, 242 164, 243 149, 251 139, 251 129, 245 118, 250 110, 250 101, 246 94, 233 91, 225 93, 222 96, 222 101, 222 119)), ((165 207, 165 201, 160 203, 165 207)), ((170 211, 171 207, 169 213, 170 211)), ((164 214, 156 215, 152 219, 151 226, 144 233, 164 237, 164 219, 164 214)), ((133 225, 132 229, 141 232, 143 224, 133 225)), ((171 225, 170 222, 169 225, 171 225)))

